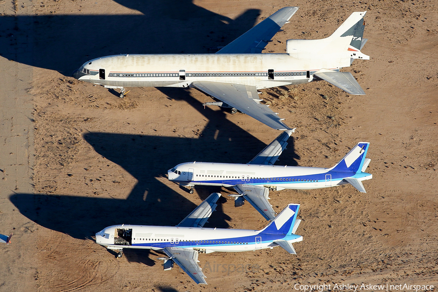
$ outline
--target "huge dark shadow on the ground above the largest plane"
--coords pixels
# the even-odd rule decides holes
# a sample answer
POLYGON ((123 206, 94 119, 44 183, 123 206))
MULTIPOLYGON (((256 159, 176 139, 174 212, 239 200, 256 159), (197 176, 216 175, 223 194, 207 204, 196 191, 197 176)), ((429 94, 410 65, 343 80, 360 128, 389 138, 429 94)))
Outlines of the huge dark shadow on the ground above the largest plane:
POLYGON ((249 9, 230 19, 191 0, 116 2, 144 15, 2 16, 0 55, 71 76, 105 55, 207 53, 252 28, 259 15, 249 9))

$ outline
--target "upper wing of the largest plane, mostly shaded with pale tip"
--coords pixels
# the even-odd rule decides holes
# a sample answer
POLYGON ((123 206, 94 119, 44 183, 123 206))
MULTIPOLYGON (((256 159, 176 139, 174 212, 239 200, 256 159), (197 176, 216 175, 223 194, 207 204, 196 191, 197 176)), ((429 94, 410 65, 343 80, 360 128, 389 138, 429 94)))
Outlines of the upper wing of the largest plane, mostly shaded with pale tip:
POLYGON ((284 7, 220 49, 216 54, 261 53, 298 7, 284 7))

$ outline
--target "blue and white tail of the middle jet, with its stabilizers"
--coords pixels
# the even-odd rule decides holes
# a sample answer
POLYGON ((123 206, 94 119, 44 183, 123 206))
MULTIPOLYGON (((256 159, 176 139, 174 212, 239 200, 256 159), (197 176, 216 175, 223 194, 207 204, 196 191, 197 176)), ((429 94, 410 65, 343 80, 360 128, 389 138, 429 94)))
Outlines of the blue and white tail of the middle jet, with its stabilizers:
POLYGON ((353 173, 351 176, 344 178, 343 181, 351 184, 362 193, 366 193, 362 181, 370 180, 373 177, 372 174, 365 172, 371 162, 371 159, 365 158, 368 147, 368 142, 359 142, 340 162, 329 169, 329 172, 353 173))

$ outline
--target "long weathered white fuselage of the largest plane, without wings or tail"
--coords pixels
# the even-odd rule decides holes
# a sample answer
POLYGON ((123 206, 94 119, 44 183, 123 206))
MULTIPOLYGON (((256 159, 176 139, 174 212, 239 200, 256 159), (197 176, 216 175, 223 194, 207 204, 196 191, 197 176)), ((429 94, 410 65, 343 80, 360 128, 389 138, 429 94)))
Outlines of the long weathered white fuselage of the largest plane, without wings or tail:
POLYGON ((289 54, 112 55, 91 60, 74 74, 107 87, 186 88, 194 81, 215 81, 263 89, 305 83, 322 68, 339 71, 349 64, 339 54, 307 59, 289 54))

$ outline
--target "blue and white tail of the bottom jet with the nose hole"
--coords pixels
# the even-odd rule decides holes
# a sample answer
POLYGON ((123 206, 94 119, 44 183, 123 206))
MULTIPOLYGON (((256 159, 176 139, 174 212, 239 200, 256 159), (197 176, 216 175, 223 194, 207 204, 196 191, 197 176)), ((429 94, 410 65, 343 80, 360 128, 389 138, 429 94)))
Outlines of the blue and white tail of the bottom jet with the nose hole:
POLYGON ((296 219, 299 207, 299 204, 289 204, 268 226, 260 230, 260 234, 270 236, 284 235, 284 237, 274 240, 273 243, 281 246, 293 255, 296 255, 296 252, 292 243, 303 240, 302 236, 295 235, 295 231, 301 222, 300 219, 296 219))

